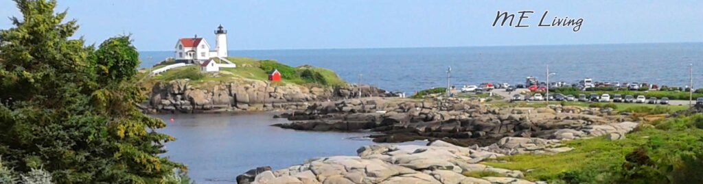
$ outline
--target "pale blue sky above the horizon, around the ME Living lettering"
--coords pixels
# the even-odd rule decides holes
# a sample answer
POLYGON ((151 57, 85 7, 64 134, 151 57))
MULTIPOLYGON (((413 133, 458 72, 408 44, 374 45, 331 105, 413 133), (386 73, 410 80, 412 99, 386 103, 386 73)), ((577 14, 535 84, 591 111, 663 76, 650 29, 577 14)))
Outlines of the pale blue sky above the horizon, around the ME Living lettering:
MULTIPOLYGON (((0 17, 18 16, 0 1, 0 17)), ((228 29, 231 50, 405 48, 484 45, 703 42, 703 1, 59 1, 89 43, 133 34, 139 50, 172 50, 198 34, 214 44, 228 29), (491 27, 496 11, 534 10, 531 27, 491 27), (534 27, 583 17, 581 30, 534 27)), ((517 21, 517 20, 515 20, 517 21)), ((11 27, 8 19, 0 28, 11 27)))

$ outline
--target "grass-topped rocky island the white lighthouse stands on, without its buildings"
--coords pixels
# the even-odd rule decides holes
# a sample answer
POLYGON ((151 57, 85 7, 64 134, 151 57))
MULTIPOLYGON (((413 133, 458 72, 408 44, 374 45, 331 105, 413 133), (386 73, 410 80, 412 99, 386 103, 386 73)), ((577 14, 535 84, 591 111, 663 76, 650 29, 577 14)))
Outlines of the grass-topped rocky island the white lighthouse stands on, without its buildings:
MULTIPOLYGON (((215 59, 216 61, 218 59, 215 59)), ((350 85, 328 69, 291 67, 271 60, 230 57, 238 67, 202 72, 198 66, 183 66, 150 76, 173 61, 143 71, 150 113, 217 113, 307 109, 317 101, 359 97, 392 97, 394 94, 368 85, 350 85), (282 80, 267 75, 280 71, 282 80)))

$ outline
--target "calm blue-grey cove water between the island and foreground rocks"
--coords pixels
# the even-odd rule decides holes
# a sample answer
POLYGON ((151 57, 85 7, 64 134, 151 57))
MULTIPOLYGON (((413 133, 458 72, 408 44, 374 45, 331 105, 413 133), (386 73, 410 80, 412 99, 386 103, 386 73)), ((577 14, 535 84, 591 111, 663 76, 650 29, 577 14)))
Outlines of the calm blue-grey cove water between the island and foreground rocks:
POLYGON ((271 118, 269 113, 154 116, 167 122, 160 132, 177 139, 167 143, 166 156, 186 164, 188 174, 198 183, 236 183, 236 176, 255 167, 282 169, 314 157, 356 155, 357 148, 373 144, 361 138, 368 133, 271 127, 287 120, 271 118))

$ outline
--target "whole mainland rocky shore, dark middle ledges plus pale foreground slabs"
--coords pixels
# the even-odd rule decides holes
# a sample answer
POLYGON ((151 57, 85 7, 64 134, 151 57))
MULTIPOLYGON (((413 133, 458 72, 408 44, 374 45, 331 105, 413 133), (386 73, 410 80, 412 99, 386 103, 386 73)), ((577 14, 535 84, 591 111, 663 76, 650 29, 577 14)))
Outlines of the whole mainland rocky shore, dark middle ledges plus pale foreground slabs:
POLYGON ((357 156, 321 157, 285 169, 259 167, 237 177, 243 183, 546 183, 522 171, 481 164, 516 154, 573 150, 561 141, 625 139, 638 123, 610 108, 549 106, 496 108, 468 99, 365 98, 311 104, 277 115, 274 126, 307 131, 370 129, 376 142, 427 139, 427 146, 363 146, 357 156), (477 176, 475 173, 491 173, 477 176))

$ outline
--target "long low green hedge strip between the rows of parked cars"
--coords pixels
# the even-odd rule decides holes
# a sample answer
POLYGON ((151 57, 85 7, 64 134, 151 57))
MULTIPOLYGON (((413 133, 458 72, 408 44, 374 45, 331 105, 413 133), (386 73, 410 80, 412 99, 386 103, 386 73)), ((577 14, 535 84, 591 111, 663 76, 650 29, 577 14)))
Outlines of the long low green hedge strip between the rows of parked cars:
MULTIPOLYGON (((610 94, 611 97, 614 94, 621 94, 622 97, 624 98, 626 95, 632 95, 633 97, 637 97, 638 95, 644 95, 645 97, 657 97, 657 99, 662 99, 662 97, 668 97, 669 99, 681 99, 681 100, 688 100, 688 95, 689 92, 680 92, 680 91, 646 91, 645 88, 640 88, 638 91, 631 91, 631 90, 616 90, 614 87, 595 87, 592 89, 589 89, 588 91, 581 91, 578 88, 574 87, 559 87, 554 90, 551 90, 552 92, 555 93, 561 93, 564 95, 569 95, 572 94, 575 97, 579 97, 579 94, 610 94)), ((696 90, 693 93, 693 99, 696 99, 698 97, 703 97, 703 92, 699 92, 701 90, 696 90)))

